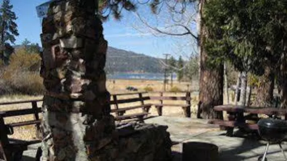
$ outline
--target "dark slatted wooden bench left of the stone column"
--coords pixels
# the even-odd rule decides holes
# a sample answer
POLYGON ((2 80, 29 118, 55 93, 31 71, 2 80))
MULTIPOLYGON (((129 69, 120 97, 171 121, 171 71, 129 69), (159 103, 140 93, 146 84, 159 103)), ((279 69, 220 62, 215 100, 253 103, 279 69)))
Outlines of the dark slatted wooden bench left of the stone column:
POLYGON ((11 111, 0 111, 0 160, 21 160, 24 150, 27 150, 28 145, 41 142, 41 139, 25 141, 19 139, 8 138, 8 135, 14 134, 14 127, 33 125, 35 124, 37 129, 37 135, 40 135, 40 119, 39 113, 41 108, 38 108, 37 102, 42 100, 32 100, 32 101, 18 101, 9 103, 0 103, 1 105, 11 105, 11 104, 22 104, 31 103, 32 108, 21 109, 21 110, 11 110, 11 111), (4 118, 12 116, 22 116, 34 114, 34 120, 16 122, 16 123, 5 123, 4 118))

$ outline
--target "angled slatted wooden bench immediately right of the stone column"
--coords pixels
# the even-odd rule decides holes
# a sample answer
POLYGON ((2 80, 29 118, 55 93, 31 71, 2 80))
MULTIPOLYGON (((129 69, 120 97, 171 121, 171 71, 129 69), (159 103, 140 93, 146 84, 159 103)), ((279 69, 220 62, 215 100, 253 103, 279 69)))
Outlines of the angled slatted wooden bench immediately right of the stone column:
POLYGON ((140 122, 143 122, 143 118, 149 114, 149 110, 152 107, 152 104, 145 104, 144 101, 150 100, 150 97, 143 97, 142 94, 145 93, 125 93, 125 94, 113 94, 112 101, 110 104, 114 106, 114 109, 111 109, 112 113, 115 113, 115 120, 121 121, 126 119, 137 119, 140 122), (128 99, 118 99, 118 96, 131 96, 136 95, 135 98, 128 98, 128 99), (119 104, 126 104, 126 103, 136 103, 140 102, 140 105, 131 105, 127 107, 119 108, 119 104), (142 112, 124 115, 128 110, 134 109, 141 109, 142 112))

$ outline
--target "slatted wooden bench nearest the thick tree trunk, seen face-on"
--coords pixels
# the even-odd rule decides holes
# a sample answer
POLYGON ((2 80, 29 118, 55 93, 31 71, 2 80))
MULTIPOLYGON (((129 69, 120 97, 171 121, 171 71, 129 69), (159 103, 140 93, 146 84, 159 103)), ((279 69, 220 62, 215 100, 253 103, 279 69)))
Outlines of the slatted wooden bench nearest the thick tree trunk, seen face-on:
POLYGON ((157 108, 157 112, 159 116, 162 116, 162 108, 164 106, 171 106, 171 107, 177 106, 183 109, 185 117, 190 117, 190 106, 191 106, 190 105, 190 101, 191 101, 190 92, 186 92, 185 96, 178 96, 178 97, 163 96, 163 92, 160 92, 160 96, 150 96, 150 99, 160 101, 159 104, 153 104, 157 108), (164 103, 163 102, 164 100, 185 101, 185 104, 169 104, 169 103, 164 103))

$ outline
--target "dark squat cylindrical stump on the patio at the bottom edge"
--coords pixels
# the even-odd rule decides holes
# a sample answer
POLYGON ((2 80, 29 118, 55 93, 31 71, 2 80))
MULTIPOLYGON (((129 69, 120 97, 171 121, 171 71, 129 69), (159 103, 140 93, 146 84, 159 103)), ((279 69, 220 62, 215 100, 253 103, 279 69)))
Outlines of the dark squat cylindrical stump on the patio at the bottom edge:
POLYGON ((218 146, 205 142, 182 143, 182 161, 218 161, 218 146))

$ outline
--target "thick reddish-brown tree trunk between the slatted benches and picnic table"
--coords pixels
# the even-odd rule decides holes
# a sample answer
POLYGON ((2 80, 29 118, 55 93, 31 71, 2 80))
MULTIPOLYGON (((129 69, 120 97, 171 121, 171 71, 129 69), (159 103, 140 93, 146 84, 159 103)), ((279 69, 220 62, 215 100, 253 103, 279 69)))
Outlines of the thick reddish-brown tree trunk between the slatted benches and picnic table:
MULTIPOLYGON (((202 16, 204 0, 200 1, 199 14, 202 16)), ((199 47, 200 47, 200 77, 199 77, 199 105, 203 119, 223 119, 223 113, 213 110, 214 106, 223 105, 223 72, 224 65, 207 62, 207 53, 204 49, 204 39, 208 37, 204 24, 200 23, 199 47)))

